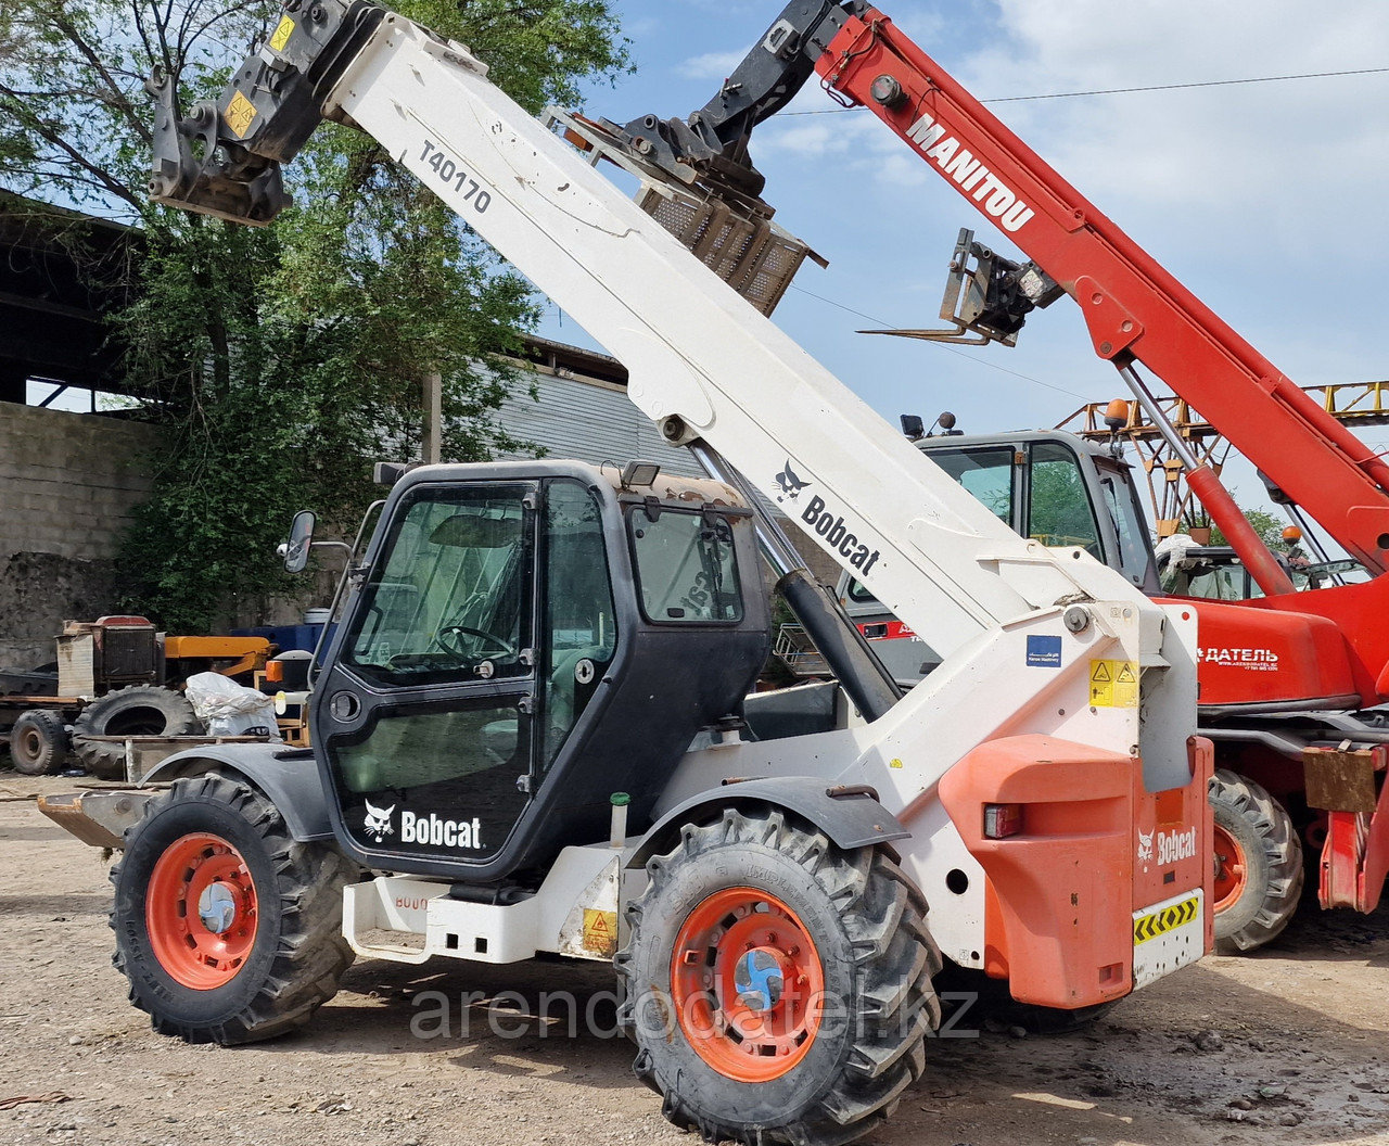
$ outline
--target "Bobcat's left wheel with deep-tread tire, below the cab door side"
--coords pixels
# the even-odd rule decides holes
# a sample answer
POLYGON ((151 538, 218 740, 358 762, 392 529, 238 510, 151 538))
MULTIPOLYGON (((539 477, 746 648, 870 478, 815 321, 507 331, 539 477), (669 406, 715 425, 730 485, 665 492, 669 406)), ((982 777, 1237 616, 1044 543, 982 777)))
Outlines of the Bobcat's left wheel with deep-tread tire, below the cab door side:
POLYGON ((356 874, 335 847, 294 840, 276 807, 240 778, 214 771, 178 779, 149 802, 111 870, 113 963, 129 981, 131 1002, 163 1035, 235 1045, 288 1033, 338 993, 353 961, 342 935, 342 904, 356 874), (200 856, 188 861, 186 874, 178 871, 189 842, 196 849, 201 840, 222 845, 217 856, 213 846, 203 849, 210 861, 239 860, 238 878, 249 888, 251 935, 229 971, 199 964, 201 946, 214 949, 219 936, 201 925, 197 903, 179 906, 160 896, 160 888, 169 886, 161 877, 169 858, 172 882, 197 888, 200 856), (176 940, 197 945, 197 952, 181 950, 176 940))

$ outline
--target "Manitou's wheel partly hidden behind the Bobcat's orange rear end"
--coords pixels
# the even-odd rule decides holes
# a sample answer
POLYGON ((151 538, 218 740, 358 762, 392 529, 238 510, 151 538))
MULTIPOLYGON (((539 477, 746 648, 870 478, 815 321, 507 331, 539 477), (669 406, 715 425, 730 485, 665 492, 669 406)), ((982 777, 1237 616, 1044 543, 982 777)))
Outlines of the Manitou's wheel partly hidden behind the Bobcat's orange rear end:
POLYGON ((1210 802, 1217 840, 1215 950, 1240 954, 1276 939, 1297 910, 1301 840, 1267 789, 1226 768, 1211 778, 1210 802))

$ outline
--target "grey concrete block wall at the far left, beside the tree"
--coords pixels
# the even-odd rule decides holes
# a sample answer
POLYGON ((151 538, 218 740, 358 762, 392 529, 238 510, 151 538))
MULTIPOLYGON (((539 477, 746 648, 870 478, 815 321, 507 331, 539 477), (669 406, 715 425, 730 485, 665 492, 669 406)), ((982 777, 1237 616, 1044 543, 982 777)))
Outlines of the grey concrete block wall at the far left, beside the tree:
POLYGON ((0 403, 0 667, 53 660, 65 618, 115 608, 115 549, 153 428, 0 403))

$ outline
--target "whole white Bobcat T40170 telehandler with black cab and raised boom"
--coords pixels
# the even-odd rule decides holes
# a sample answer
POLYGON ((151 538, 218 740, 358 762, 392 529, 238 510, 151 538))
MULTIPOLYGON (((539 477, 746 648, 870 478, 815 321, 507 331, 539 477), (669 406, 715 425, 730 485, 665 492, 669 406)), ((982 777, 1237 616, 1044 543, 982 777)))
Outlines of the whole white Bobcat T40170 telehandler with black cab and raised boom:
POLYGON ((565 139, 365 0, 290 0, 188 118, 151 88, 156 199, 267 222, 281 163, 351 124, 625 363, 710 474, 411 470, 315 668, 313 750, 171 757, 124 820, 110 795, 49 802, 125 849, 115 961, 156 1029, 278 1035, 354 953, 611 960, 668 1118, 839 1143, 925 1070, 942 957, 1085 1014, 1208 950, 1193 615, 1017 536, 739 297, 770 310, 795 269, 750 200, 663 182, 578 117, 565 139), (943 664, 903 696, 754 492, 943 664), (746 696, 760 551, 838 683, 746 696))

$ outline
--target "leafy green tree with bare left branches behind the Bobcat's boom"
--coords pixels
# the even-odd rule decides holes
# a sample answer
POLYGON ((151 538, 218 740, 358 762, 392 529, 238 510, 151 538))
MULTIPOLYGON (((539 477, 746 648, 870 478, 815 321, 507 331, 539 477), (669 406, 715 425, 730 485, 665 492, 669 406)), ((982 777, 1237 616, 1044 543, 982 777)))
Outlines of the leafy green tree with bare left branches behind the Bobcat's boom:
MULTIPOLYGON (((610 0, 394 7, 468 43, 533 111, 629 67, 610 0)), ((292 508, 350 522, 372 495, 367 458, 418 457, 429 371, 443 378, 444 458, 517 447, 494 411, 538 318, 526 282, 344 128, 319 129, 286 172, 296 207, 269 228, 147 203, 144 76, 174 76, 186 108, 276 15, 235 0, 11 0, 0 13, 0 185, 143 231, 143 257, 121 271, 138 301, 115 333, 165 435, 122 565, 129 604, 186 631, 286 592, 274 546, 292 508)))

